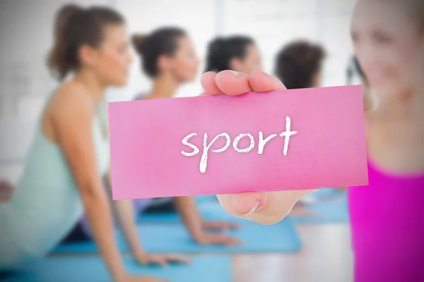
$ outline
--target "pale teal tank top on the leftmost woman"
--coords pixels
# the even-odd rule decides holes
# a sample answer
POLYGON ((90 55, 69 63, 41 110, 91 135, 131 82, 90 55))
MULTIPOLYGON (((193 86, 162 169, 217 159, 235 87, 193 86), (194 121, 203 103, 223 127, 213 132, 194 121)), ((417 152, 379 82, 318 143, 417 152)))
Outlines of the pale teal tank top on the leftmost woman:
MULTIPOLYGON (((100 176, 110 164, 102 120, 93 121, 93 142, 100 176)), ((0 267, 41 257, 81 219, 81 196, 61 148, 45 137, 41 122, 25 159, 11 201, 0 204, 0 267)))

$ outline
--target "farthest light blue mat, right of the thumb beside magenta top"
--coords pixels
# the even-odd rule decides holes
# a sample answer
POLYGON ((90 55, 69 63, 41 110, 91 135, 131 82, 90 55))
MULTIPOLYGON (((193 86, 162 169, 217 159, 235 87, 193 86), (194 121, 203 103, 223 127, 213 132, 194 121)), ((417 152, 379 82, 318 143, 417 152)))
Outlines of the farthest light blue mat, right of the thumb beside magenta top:
MULTIPOLYGON (((346 192, 337 192, 332 198, 317 199, 306 204, 305 209, 316 213, 316 216, 290 216, 295 223, 348 223, 348 200, 346 192)), ((314 193, 312 193, 314 194, 314 193)))

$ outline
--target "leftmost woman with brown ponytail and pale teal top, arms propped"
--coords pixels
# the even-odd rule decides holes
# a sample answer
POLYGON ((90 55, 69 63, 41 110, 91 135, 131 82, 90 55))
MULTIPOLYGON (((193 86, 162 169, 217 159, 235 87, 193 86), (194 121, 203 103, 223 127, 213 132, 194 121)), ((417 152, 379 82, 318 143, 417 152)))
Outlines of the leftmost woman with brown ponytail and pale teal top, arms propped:
MULTIPOLYGON (((107 87, 126 84, 131 61, 124 18, 119 13, 76 5, 60 9, 48 66, 61 85, 42 111, 14 194, 10 197, 10 185, 0 186, 9 194, 0 204, 1 271, 47 255, 85 210, 114 281, 163 281, 126 273, 101 182, 109 167, 109 140, 98 109, 107 87)), ((114 206, 132 255, 140 263, 149 262, 134 221, 126 220, 132 216, 131 202, 116 201, 114 206)))

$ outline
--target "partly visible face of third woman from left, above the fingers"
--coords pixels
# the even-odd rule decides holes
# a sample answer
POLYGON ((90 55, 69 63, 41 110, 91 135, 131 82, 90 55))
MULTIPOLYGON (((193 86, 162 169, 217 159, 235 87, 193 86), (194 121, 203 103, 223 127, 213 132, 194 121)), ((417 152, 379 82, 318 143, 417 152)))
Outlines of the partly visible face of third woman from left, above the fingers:
POLYGON ((243 59, 232 59, 230 63, 232 71, 251 74, 253 71, 262 71, 262 59, 259 48, 255 44, 249 44, 246 47, 246 54, 243 59))

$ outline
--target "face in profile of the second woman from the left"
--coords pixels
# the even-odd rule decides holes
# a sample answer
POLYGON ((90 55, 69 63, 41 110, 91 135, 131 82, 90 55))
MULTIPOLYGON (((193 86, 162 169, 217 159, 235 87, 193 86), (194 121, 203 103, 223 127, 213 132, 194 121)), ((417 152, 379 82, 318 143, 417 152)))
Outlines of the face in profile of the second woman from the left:
POLYGON ((192 41, 187 36, 178 39, 175 54, 167 57, 167 71, 180 82, 191 82, 196 79, 200 60, 194 51, 192 41))

